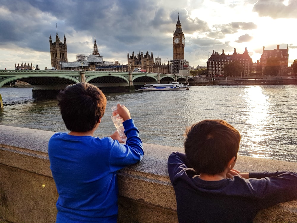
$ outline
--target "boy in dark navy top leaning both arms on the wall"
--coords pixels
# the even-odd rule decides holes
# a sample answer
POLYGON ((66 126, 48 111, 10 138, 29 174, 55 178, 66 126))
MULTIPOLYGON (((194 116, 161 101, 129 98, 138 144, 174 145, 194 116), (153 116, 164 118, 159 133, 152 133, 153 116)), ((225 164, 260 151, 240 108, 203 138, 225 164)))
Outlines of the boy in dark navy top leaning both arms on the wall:
POLYGON ((223 120, 186 130, 185 153, 168 158, 180 223, 253 222, 258 211, 297 199, 297 173, 240 173, 233 169, 239 132, 223 120))

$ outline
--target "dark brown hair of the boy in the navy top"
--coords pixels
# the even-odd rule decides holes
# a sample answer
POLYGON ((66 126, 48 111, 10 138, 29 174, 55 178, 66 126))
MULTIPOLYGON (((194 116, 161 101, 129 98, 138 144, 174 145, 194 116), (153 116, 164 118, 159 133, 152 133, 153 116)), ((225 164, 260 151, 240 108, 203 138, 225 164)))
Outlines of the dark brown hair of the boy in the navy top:
POLYGON ((240 133, 224 120, 203 120, 187 128, 184 148, 197 174, 215 175, 237 158, 240 133))

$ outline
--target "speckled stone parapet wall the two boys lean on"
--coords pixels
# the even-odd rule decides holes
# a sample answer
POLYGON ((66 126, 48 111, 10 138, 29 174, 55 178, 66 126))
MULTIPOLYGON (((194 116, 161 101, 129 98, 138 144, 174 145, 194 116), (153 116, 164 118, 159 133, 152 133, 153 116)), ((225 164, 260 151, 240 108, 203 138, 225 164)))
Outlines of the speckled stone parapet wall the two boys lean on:
MULTIPOLYGON (((54 132, 0 125, 0 219, 52 223, 58 194, 49 169, 54 132)), ((178 222, 167 158, 182 148, 144 144, 143 160, 119 171, 119 222, 178 222)), ((297 163, 238 156, 241 172, 291 170, 297 163)), ((258 213, 254 222, 297 222, 297 201, 258 213)))

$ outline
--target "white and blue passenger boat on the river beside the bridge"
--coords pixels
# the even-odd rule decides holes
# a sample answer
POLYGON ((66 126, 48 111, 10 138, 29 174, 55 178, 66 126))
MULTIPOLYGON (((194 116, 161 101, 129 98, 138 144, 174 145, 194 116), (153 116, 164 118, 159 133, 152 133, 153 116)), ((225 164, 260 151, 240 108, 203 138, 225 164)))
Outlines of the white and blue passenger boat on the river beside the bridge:
POLYGON ((167 84, 145 84, 138 89, 139 91, 176 91, 176 90, 189 90, 189 84, 180 84, 178 82, 169 82, 167 84))

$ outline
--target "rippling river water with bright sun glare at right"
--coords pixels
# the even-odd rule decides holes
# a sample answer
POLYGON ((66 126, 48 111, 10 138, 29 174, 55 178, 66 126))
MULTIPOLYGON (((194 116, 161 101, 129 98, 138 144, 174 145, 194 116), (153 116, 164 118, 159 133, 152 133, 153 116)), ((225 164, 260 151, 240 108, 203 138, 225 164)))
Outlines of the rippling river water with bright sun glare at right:
MULTIPOLYGON (((31 88, 1 88, 0 125, 67 131, 55 99, 32 98, 31 88)), ((115 131, 110 108, 124 104, 144 143, 183 147, 185 128, 223 119, 241 133, 238 154, 297 162, 297 85, 192 86, 189 91, 107 93, 95 136, 115 131)))

